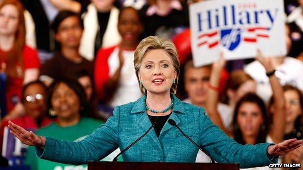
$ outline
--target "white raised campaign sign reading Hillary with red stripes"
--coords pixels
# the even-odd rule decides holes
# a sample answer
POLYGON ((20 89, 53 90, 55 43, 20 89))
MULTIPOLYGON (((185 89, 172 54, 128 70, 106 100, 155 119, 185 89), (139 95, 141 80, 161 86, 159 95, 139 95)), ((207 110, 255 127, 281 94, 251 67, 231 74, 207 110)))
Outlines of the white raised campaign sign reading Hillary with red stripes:
POLYGON ((191 4, 191 47, 195 66, 217 61, 286 55, 283 0, 206 0, 191 4))

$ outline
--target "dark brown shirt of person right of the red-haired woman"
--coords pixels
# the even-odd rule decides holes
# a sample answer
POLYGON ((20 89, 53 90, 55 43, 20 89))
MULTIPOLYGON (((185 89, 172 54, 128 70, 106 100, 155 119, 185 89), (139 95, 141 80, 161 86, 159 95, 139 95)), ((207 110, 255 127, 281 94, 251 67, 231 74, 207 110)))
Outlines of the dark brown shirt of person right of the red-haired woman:
POLYGON ((40 75, 52 77, 54 79, 75 76, 80 71, 86 71, 93 77, 93 62, 82 59, 76 63, 65 58, 60 52, 54 53, 53 57, 42 65, 40 75))

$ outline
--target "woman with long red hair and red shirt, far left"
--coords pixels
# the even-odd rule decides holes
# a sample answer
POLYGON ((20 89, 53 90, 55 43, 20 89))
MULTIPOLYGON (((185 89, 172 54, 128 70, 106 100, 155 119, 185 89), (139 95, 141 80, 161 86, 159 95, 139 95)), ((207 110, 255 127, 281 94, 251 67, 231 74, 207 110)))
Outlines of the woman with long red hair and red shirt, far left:
POLYGON ((36 50, 25 45, 23 11, 18 0, 4 0, 0 5, 0 74, 6 86, 6 108, 1 115, 10 113, 10 119, 22 110, 22 84, 36 80, 40 67, 36 50))

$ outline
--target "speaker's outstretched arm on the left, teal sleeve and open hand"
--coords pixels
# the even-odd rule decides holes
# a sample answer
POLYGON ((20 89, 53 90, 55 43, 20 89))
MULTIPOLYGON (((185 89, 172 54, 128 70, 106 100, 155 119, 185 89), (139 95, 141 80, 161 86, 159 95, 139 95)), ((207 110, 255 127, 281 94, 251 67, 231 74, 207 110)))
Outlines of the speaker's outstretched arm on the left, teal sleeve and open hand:
POLYGON ((115 108, 114 116, 105 124, 77 142, 37 136, 12 122, 9 128, 23 143, 35 146, 39 158, 65 164, 86 164, 88 160, 99 161, 118 148, 118 109, 115 108))

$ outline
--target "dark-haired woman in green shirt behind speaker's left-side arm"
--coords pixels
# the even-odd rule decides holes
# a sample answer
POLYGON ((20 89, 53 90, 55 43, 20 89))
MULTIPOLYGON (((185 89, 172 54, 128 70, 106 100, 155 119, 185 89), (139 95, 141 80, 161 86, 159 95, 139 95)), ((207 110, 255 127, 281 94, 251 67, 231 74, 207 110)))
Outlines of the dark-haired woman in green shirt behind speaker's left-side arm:
MULTIPOLYGON (((104 123, 90 118, 93 116, 93 112, 86 100, 84 88, 74 79, 59 79, 50 85, 47 107, 55 120, 49 126, 39 129, 36 134, 78 141, 104 123)), ((68 168, 82 170, 86 168, 86 165, 71 168, 73 167, 71 165, 38 159, 35 156, 34 147, 28 149, 25 164, 30 165, 31 170, 65 170, 68 168)))

